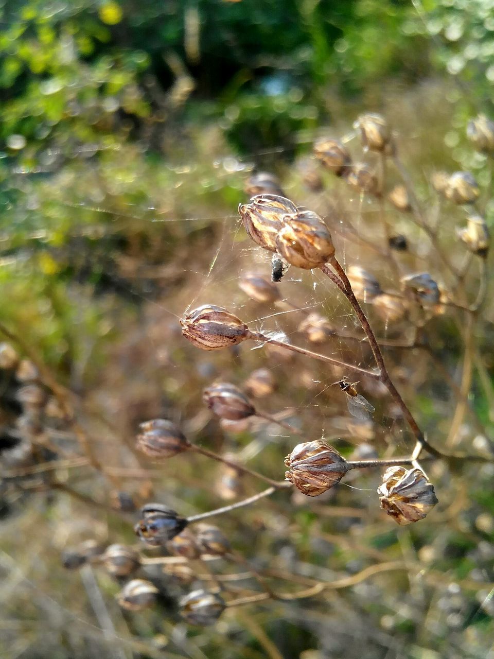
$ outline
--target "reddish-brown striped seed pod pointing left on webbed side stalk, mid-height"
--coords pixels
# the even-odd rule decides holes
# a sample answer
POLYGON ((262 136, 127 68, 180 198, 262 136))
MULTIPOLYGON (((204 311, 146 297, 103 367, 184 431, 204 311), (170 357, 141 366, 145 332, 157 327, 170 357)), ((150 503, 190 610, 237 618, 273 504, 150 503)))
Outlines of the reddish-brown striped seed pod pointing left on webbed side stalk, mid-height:
POLYGON ((182 335, 202 350, 220 350, 242 343, 249 329, 236 316, 214 304, 203 304, 180 320, 182 335))

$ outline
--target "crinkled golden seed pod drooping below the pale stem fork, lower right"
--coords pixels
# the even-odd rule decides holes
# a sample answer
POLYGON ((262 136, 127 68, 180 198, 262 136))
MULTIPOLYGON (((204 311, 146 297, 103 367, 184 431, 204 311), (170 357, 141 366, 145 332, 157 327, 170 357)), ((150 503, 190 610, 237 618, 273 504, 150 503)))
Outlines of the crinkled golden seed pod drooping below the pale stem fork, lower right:
POLYGON ((381 508, 400 525, 424 519, 437 503, 434 488, 420 469, 389 467, 377 492, 381 508))

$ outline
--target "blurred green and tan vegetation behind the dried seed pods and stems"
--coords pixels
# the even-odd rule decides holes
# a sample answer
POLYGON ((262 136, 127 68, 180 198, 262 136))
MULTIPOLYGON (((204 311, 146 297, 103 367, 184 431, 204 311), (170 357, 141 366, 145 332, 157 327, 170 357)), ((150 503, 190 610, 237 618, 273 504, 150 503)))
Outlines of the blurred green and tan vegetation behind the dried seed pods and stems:
MULTIPOLYGON (((150 418, 180 422, 195 444, 283 478, 283 458, 299 438, 257 417, 220 426, 202 403, 216 378, 245 384, 251 397, 270 391, 260 394, 263 411, 303 428, 308 440, 339 440, 346 457, 370 455, 367 444, 379 455, 410 452, 400 416, 372 382, 359 390, 380 423, 352 424, 343 393, 328 387, 348 374, 244 346, 197 355, 178 317, 190 304, 222 304, 294 343, 314 348, 322 337, 321 351, 368 364, 365 346, 335 334, 358 328, 320 278, 290 268, 283 301, 261 304, 246 293, 248 272, 269 279, 271 262, 244 240, 236 207, 252 173, 266 169, 297 204, 341 214, 343 225, 328 223, 345 264, 362 264, 385 291, 397 287, 397 261, 402 274, 427 270, 456 301, 472 304, 480 260, 465 260, 455 233, 465 208, 436 196, 431 181, 435 171, 472 171, 477 210, 491 227, 491 156, 472 148, 466 126, 480 112, 493 116, 493 29, 494 7, 482 0, 0 2, 0 329, 16 351, 0 354, 5 656, 489 656, 490 465, 458 474, 427 465, 441 506, 412 529, 379 512, 377 473, 348 480, 362 490, 342 485, 309 502, 281 492, 219 518, 250 563, 221 559, 217 573, 271 570, 270 579, 296 575, 299 588, 342 583, 319 598, 231 609, 215 627, 188 627, 175 605, 198 585, 194 575, 210 585, 207 563, 174 574, 140 566, 153 587, 134 584, 119 596, 130 598, 123 610, 114 600, 121 575, 97 563, 80 573, 63 564, 114 543, 136 546, 132 510, 150 498, 188 515, 258 492, 252 478, 205 457, 146 461, 134 436, 150 418), (441 254, 460 279, 408 211, 387 206, 389 231, 411 245, 390 252, 379 200, 317 164, 313 144, 329 135, 379 171, 379 160, 351 141, 361 110, 380 111, 397 130, 441 254), (371 246, 379 239, 380 254, 371 246), (267 389, 265 375, 261 389, 252 375, 259 368, 273 377, 267 389), (97 469, 77 463, 87 443, 97 469), (397 561, 408 571, 351 583, 397 561), (152 608, 128 611, 136 593, 155 600, 153 588, 152 608)), ((393 169, 386 180, 390 189, 400 183, 393 169)), ((370 308, 381 337, 410 339, 399 310, 393 324, 370 308)), ((487 297, 470 334, 463 313, 427 317, 424 348, 385 354, 434 445, 489 451, 493 307, 487 297)))

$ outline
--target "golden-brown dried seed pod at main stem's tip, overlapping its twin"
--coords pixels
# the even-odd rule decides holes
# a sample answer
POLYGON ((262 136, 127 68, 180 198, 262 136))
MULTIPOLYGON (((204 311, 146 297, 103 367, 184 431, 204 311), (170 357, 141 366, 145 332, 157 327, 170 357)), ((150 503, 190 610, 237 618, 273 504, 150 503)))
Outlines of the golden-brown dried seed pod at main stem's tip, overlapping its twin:
POLYGON ((285 215, 285 226, 276 237, 276 248, 287 263, 304 270, 323 266, 335 254, 329 229, 312 211, 285 215))

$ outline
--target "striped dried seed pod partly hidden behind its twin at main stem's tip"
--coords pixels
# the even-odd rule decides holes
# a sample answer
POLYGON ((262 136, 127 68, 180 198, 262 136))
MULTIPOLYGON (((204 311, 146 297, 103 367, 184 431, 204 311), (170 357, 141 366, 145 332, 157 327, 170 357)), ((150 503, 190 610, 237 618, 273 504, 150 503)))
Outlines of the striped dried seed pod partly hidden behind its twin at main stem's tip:
POLYGON ((240 204, 238 212, 248 236, 254 243, 276 252, 276 236, 283 227, 283 217, 297 212, 297 207, 286 197, 261 194, 248 204, 240 204))

